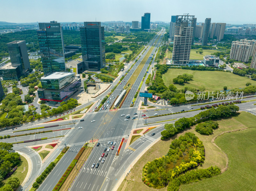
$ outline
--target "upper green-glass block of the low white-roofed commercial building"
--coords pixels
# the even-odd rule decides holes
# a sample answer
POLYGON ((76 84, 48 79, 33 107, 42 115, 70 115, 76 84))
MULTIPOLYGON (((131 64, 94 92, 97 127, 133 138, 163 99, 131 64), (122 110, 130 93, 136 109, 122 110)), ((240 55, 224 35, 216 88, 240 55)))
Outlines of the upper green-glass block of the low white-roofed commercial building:
POLYGON ((70 84, 75 77, 75 73, 55 73, 51 76, 42 78, 41 84, 43 89, 51 89, 51 90, 60 90, 61 88, 65 87, 66 85, 70 84), (63 77, 53 78, 56 75, 61 76, 64 74, 63 77), (68 74, 68 76, 66 75, 68 74), (52 79, 50 78, 52 77, 52 79))

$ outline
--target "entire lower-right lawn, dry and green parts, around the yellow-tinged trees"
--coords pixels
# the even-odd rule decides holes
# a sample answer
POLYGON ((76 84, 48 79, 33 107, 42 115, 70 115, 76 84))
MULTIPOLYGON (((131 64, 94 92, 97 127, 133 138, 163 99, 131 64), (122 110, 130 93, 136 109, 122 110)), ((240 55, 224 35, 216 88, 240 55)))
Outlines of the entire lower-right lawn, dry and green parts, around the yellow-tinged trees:
MULTIPOLYGON (((220 142, 219 138, 215 141, 215 143, 218 146, 220 146, 224 152, 226 152, 228 154, 228 157, 230 157, 229 165, 228 165, 229 170, 227 172, 225 172, 221 175, 218 175, 216 177, 213 177, 211 179, 206 179, 203 181, 199 181, 197 183, 183 185, 180 187, 180 190, 191 190, 191 191, 194 191, 194 190, 253 190, 254 188, 253 188, 252 184, 255 181, 252 180, 252 175, 253 175, 253 177, 256 176, 256 174, 255 174, 256 165, 254 165, 256 162, 256 152, 255 152, 256 124, 255 124, 255 120, 256 120, 255 115, 252 115, 247 112, 241 112, 239 115, 234 116, 232 118, 216 120, 219 123, 219 128, 213 130, 213 134, 211 134, 209 136, 200 135, 199 133, 197 133, 195 131, 195 126, 193 126, 189 129, 186 129, 185 131, 182 131, 181 133, 179 133, 175 136, 172 136, 171 138, 165 139, 164 141, 159 140, 158 142, 156 142, 156 144, 154 144, 151 148, 149 148, 149 150, 145 154, 142 155, 142 157, 132 167, 131 173, 129 173, 126 180, 124 180, 122 182, 122 184, 120 185, 120 187, 117 190, 118 191, 130 191, 130 190, 132 190, 132 191, 133 190, 152 191, 153 190, 152 188, 146 186, 141 181, 141 171, 142 171, 143 166, 148 161, 152 161, 156 158, 166 155, 166 153, 170 149, 171 142, 174 139, 178 138, 180 135, 184 135, 187 132, 194 133, 204 144, 205 160, 204 160, 203 165, 198 166, 198 168, 204 169, 204 168, 210 167, 211 165, 213 165, 213 166, 217 165, 220 169, 223 169, 226 166, 226 155, 223 152, 221 152, 215 145, 212 144, 212 142, 211 142, 212 138, 214 138, 217 135, 220 135, 222 132, 225 132, 225 131, 242 129, 242 128, 246 128, 246 127, 248 127, 248 128, 254 127, 254 128, 252 128, 252 130, 255 133, 252 133, 250 129, 245 130, 245 131, 238 131, 237 134, 238 134, 238 136, 241 135, 241 138, 239 138, 239 137, 232 138, 232 139, 228 138, 227 141, 225 141, 226 136, 227 137, 228 137, 228 135, 231 136, 233 133, 224 134, 225 135, 224 138, 222 138, 223 136, 220 136, 219 138, 221 138, 221 140, 224 140, 225 144, 227 143, 226 146, 228 146, 229 150, 225 150, 225 147, 223 147, 219 143, 220 142), (246 134, 245 136, 243 135, 243 132, 246 134), (246 133, 246 132, 248 132, 248 133, 246 133), (242 134, 239 134, 239 133, 242 133, 242 134), (245 143, 246 142, 245 140, 247 140, 247 136, 249 138, 248 138, 247 143, 245 143), (252 139, 254 139, 254 140, 252 140, 252 139), (244 149, 241 150, 241 147, 243 147, 243 145, 244 145, 244 149), (248 146, 248 145, 250 145, 250 146, 248 146), (159 149, 159 148, 161 148, 161 149, 159 149), (233 152, 234 152, 234 154, 231 154, 233 152), (236 157, 237 157, 237 159, 236 159, 236 157), (234 158, 235 158, 235 162, 233 162, 234 158), (241 169, 238 169, 239 165, 241 166, 240 167, 241 169), (248 166, 250 166, 252 169, 249 170, 248 166), (235 170, 232 170, 233 168, 235 170), (246 173, 247 170, 248 170, 248 173, 246 173), (229 173, 229 171, 231 171, 232 173, 229 173), (243 172, 243 175, 240 172, 243 172), (234 187, 231 186, 233 189, 228 189, 225 186, 225 187, 223 187, 223 189, 221 189, 221 186, 225 185, 226 182, 228 185, 230 185, 230 184, 235 185, 236 181, 238 181, 237 179, 233 179, 233 177, 232 177, 232 175, 235 176, 235 173, 237 173, 236 177, 241 178, 241 180, 239 181, 239 184, 244 179, 247 179, 246 182, 251 181, 251 183, 248 183, 248 185, 250 185, 251 187, 250 188, 244 187, 243 189, 242 188, 240 189, 240 187, 239 187, 237 189, 234 189, 234 187), (249 177, 246 177, 247 174, 249 177), (226 177, 226 176, 228 176, 228 177, 226 177), (223 177, 223 180, 222 180, 222 177, 223 177), (212 183, 211 180, 214 180, 214 183, 212 183), (218 181, 220 181, 220 182, 218 182, 218 181), (211 186, 207 187, 207 185, 211 185, 211 186)), ((167 190, 167 187, 161 189, 161 191, 166 191, 166 190, 167 190)))

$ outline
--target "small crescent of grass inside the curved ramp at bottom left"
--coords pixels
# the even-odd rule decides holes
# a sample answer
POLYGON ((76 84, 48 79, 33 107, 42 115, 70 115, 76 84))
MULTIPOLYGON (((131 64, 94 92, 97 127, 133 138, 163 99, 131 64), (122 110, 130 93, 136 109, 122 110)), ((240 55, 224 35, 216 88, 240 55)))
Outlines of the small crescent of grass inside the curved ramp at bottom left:
MULTIPOLYGON (((21 184, 24 181, 24 179, 28 173, 28 161, 26 160, 25 157, 23 157, 21 155, 20 155, 20 159, 21 159, 20 164, 17 165, 18 168, 9 178, 16 176, 20 180, 20 184, 21 184)), ((5 179, 3 182, 6 183, 9 178, 5 179)))

